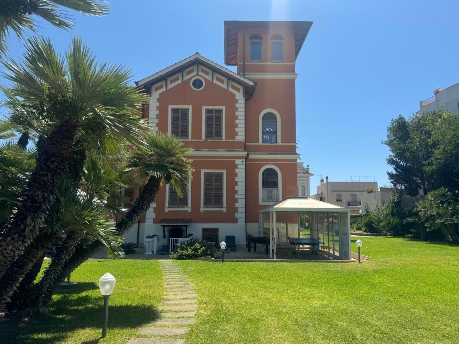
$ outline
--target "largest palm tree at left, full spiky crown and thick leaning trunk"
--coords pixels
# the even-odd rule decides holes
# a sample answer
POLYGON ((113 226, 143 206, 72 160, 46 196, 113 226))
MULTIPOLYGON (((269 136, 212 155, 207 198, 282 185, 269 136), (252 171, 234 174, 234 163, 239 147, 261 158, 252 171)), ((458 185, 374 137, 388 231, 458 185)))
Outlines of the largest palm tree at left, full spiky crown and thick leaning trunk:
MULTIPOLYGON (((79 135, 110 132, 110 138, 136 140, 147 128, 138 109, 148 95, 131 86, 124 66, 97 64, 81 39, 58 55, 49 39, 30 38, 22 64, 4 62, 11 81, 4 104, 28 122, 44 122, 43 144, 21 202, 0 237, 0 277, 24 253, 45 222, 61 178, 70 165, 70 153, 79 135), (24 105, 39 106, 36 112, 24 105)), ((39 125, 36 128, 41 128, 39 125)))

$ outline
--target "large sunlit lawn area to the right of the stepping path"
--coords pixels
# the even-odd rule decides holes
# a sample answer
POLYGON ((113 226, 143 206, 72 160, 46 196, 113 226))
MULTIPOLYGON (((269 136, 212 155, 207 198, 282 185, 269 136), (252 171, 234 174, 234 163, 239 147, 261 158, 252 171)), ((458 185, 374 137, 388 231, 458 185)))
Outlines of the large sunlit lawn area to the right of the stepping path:
POLYGON ((459 343, 459 247, 362 241, 363 264, 179 262, 200 295, 187 344, 459 343))

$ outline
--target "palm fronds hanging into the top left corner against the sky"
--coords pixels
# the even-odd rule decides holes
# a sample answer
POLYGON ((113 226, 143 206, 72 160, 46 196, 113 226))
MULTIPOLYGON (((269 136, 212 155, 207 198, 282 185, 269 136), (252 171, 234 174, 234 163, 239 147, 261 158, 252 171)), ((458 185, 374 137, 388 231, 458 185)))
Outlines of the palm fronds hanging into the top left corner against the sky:
POLYGON ((36 17, 57 28, 70 29, 72 22, 62 7, 93 16, 104 16, 108 7, 99 0, 3 0, 0 6, 0 57, 8 51, 6 38, 15 33, 19 39, 29 29, 35 32, 36 17))

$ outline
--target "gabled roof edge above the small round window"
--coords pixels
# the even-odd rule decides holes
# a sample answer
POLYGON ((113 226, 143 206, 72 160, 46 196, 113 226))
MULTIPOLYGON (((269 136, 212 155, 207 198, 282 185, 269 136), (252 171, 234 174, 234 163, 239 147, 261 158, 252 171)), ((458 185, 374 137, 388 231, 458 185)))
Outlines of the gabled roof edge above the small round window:
POLYGON ((241 77, 235 72, 230 71, 229 69, 223 66, 220 66, 219 64, 205 58, 202 55, 199 55, 199 53, 195 53, 194 55, 191 55, 182 61, 174 63, 172 66, 164 68, 163 70, 153 75, 150 75, 147 78, 143 78, 139 81, 136 81, 135 84, 137 86, 146 86, 147 84, 156 83, 158 81, 163 80, 164 78, 167 78, 168 76, 176 74, 177 72, 183 69, 196 65, 196 63, 201 64, 202 66, 212 69, 214 71, 217 71, 218 73, 222 74, 224 77, 236 83, 240 83, 248 87, 250 90, 252 90, 255 87, 255 83, 252 80, 241 77))

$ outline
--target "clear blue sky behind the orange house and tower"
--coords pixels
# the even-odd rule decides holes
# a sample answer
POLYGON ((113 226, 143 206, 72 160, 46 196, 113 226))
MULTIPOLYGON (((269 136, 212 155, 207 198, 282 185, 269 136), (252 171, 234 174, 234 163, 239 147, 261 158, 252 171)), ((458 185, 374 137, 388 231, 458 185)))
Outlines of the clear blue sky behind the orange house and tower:
MULTIPOLYGON (((40 33, 58 50, 81 36, 99 61, 126 64, 139 80, 196 51, 223 65, 224 20, 313 21, 296 65, 298 153, 315 173, 312 193, 320 175, 388 183, 390 119, 459 82, 455 0, 110 3, 107 17, 75 15, 73 32, 43 23, 40 33)), ((23 52, 15 38, 10 47, 12 57, 23 52)))

